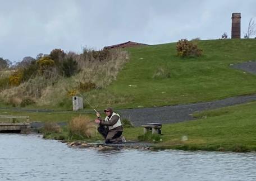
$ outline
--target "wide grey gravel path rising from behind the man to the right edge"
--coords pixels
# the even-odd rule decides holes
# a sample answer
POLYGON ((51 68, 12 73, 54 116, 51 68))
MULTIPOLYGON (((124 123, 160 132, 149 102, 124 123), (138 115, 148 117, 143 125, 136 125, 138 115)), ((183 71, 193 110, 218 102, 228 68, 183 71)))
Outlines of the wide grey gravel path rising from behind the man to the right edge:
POLYGON ((222 99, 220 101, 202 102, 193 104, 181 104, 177 106, 140 108, 140 109, 121 109, 122 118, 129 118, 134 126, 140 126, 145 123, 175 123, 194 120, 191 114, 195 111, 204 111, 207 109, 221 108, 235 104, 256 101, 256 95, 238 96, 222 99))

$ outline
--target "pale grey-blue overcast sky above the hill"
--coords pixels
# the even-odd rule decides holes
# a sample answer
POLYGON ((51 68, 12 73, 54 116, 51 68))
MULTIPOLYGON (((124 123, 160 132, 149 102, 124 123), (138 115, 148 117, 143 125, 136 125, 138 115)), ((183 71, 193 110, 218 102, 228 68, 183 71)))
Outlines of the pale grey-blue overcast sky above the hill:
POLYGON ((21 61, 52 49, 81 53, 126 41, 163 44, 182 38, 231 36, 231 14, 241 13, 241 35, 256 1, 0 0, 0 57, 21 61))

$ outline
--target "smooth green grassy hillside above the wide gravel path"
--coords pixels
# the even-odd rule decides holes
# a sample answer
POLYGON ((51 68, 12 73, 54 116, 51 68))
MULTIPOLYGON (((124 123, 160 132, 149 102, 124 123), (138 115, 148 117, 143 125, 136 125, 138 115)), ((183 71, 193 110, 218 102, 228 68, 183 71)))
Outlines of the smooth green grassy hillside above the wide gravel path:
POLYGON ((177 57, 176 43, 127 49, 130 61, 117 80, 107 90, 93 91, 86 97, 100 107, 138 108, 256 93, 255 75, 230 68, 230 64, 256 60, 256 40, 197 43, 203 49, 200 58, 177 57), (114 100, 98 103, 108 96, 114 100))

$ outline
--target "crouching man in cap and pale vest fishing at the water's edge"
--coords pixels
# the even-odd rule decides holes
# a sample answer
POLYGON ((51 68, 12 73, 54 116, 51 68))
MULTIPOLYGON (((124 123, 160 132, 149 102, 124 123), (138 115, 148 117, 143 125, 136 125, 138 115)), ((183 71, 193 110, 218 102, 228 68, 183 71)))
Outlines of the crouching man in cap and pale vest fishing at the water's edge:
POLYGON ((117 144, 126 142, 124 136, 122 136, 122 123, 120 115, 113 112, 111 107, 104 109, 106 118, 102 120, 100 114, 97 112, 97 119, 95 123, 99 124, 98 131, 104 137, 106 144, 117 144))

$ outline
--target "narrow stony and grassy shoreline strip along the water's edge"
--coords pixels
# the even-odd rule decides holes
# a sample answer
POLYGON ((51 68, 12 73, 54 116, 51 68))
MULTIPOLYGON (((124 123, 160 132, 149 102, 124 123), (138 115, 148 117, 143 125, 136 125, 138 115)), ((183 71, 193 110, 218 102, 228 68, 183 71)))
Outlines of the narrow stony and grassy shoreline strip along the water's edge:
MULTIPOLYGON (((6 133, 5 133, 6 134, 6 133)), ((17 134, 17 133, 7 133, 17 134)), ((225 147, 211 147, 207 145, 188 145, 188 144, 176 144, 176 145, 163 145, 159 143, 150 143, 145 141, 130 141, 124 144, 104 144, 103 141, 88 141, 88 140, 57 140, 49 137, 45 137, 43 133, 38 131, 31 131, 30 134, 22 135, 35 135, 40 139, 55 140, 66 144, 67 147, 81 148, 81 149, 98 149, 99 151, 111 151, 121 149, 137 149, 137 150, 149 150, 149 151, 164 151, 164 150, 180 150, 180 151, 218 151, 223 153, 256 153, 256 150, 250 149, 253 145, 232 145, 234 149, 225 149, 225 147)))

